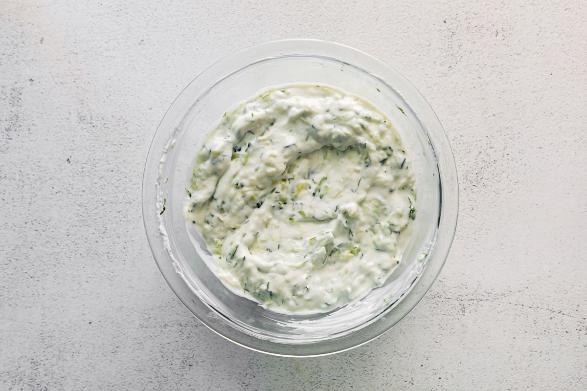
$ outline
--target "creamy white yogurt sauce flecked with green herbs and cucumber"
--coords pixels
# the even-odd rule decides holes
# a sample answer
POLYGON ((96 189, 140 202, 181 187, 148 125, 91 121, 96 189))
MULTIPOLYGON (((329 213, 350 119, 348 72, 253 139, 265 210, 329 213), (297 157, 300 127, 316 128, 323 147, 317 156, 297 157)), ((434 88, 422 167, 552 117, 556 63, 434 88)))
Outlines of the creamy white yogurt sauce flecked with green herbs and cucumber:
POLYGON ((272 87, 225 113, 186 193, 218 277, 280 312, 332 310, 382 285, 416 218, 393 125, 325 85, 272 87))

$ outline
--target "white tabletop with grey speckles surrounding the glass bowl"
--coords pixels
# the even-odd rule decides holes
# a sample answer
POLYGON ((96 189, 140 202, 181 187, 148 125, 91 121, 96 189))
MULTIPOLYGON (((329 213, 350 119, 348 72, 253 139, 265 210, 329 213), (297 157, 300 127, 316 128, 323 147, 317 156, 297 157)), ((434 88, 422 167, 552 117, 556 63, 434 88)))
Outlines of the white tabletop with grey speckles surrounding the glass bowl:
POLYGON ((0 389, 587 388, 584 2, 183 3, 0 2, 0 389), (315 359, 208 331, 140 212, 147 149, 185 84, 295 37, 410 79, 461 185, 453 251, 416 310, 315 359))

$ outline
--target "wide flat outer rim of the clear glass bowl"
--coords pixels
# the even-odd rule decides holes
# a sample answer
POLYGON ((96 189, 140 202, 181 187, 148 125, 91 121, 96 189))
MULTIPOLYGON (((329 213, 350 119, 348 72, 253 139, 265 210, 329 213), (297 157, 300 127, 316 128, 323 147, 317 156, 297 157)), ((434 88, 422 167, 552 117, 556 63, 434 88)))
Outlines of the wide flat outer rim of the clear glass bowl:
MULTIPOLYGON (((190 100, 187 100, 190 101, 190 100)), ((238 50, 231 55, 225 56, 218 60, 203 72, 198 74, 187 86, 181 91, 180 94, 173 101, 171 106, 167 109, 166 113, 161 119, 157 131, 154 134, 153 140, 151 141, 149 152, 147 154, 146 163, 143 171, 143 185, 142 185, 142 209, 143 209, 143 223, 145 232, 147 234, 147 240, 153 253, 153 257, 157 263, 161 274, 170 286, 171 290, 177 295, 182 304, 198 318, 206 327, 214 331, 216 334, 222 336, 228 341, 234 342, 237 345, 258 351, 262 353, 268 353, 276 356, 289 356, 289 357, 313 357, 313 356, 324 356, 333 353, 348 351, 349 349, 356 348, 366 344, 369 341, 382 335, 387 330, 393 328, 402 319, 404 319, 411 310, 422 300, 424 295, 430 290, 434 281, 440 274, 444 263, 450 251, 450 247, 454 240, 454 234, 456 232, 457 220, 458 220, 458 179, 456 164, 454 162, 454 156, 446 132, 442 127, 440 120, 436 113, 427 103, 426 99, 422 96, 419 90, 413 86, 402 74, 397 72, 389 64, 384 63, 382 60, 377 59, 375 56, 369 55, 362 50, 355 49, 354 47, 343 45, 340 43, 329 42, 325 40, 317 39, 285 39, 285 40, 274 40, 269 42, 260 43, 258 45, 249 46, 245 49, 238 50), (187 113, 187 110, 195 103, 189 105, 181 104, 181 98, 186 94, 189 94, 192 102, 199 100, 200 87, 197 84, 205 83, 210 89, 214 86, 218 80, 221 80, 228 74, 238 72, 239 69, 249 66, 252 63, 258 62, 259 60, 268 59, 271 57, 282 57, 282 56, 316 56, 324 57, 327 56, 333 60, 338 60, 341 63, 348 63, 356 66, 356 62, 349 60, 349 57, 357 57, 356 61, 360 63, 370 63, 376 67, 379 71, 376 74, 370 73, 369 67, 362 67, 366 72, 370 73, 371 76, 377 77, 385 86, 390 89, 396 90, 402 94, 404 101, 414 113, 417 114, 420 121, 424 117, 426 121, 431 122, 428 126, 425 123, 421 123, 427 136, 430 138, 430 131, 433 130, 433 149, 437 162, 437 169, 439 174, 438 182, 440 183, 440 203, 441 207, 439 210, 438 228, 437 228, 437 241, 434 246, 433 254, 431 254, 430 260, 424 267, 423 272, 417 278, 413 287, 410 288, 407 294, 405 294, 399 303, 392 308, 388 314, 376 319, 373 324, 367 325, 360 329, 363 331, 366 328, 371 328, 373 325, 377 325, 375 329, 370 332, 365 338, 360 338, 360 341, 353 342, 351 344, 341 344, 350 335, 356 335, 355 333, 349 334, 348 336, 342 336, 337 338, 337 341, 333 339, 325 339, 319 342, 312 342, 309 344, 281 344, 279 342, 267 341, 254 336, 247 335, 242 331, 232 328, 231 336, 227 333, 222 332, 227 330, 228 322, 222 322, 221 319, 216 317, 204 316, 210 312, 210 308, 207 304, 201 302, 195 297, 191 288, 188 287, 187 283, 177 273, 176 266, 174 266, 174 259, 172 254, 168 253, 166 246, 164 246, 161 234, 159 232, 158 224, 158 213, 156 210, 157 202, 157 180, 159 175, 159 162, 161 154, 164 151, 163 146, 167 146, 168 142, 173 138, 172 132, 168 129, 176 130, 177 121, 176 118, 179 115, 180 118, 183 114, 187 113), (341 58, 342 57, 342 58, 341 58), (228 64, 230 67, 225 69, 228 64), (234 66, 237 66, 235 68, 234 66), (231 70, 232 69, 232 70, 231 70), (209 80, 208 80, 209 79, 209 80), (210 80, 212 80, 210 82, 210 80), (389 81, 393 81, 393 86, 390 85, 389 81), (397 87, 398 84, 401 87, 397 87), (191 91, 194 90, 196 94, 191 91), (407 97, 407 98, 406 98, 407 97), (187 107, 186 107, 187 106, 187 107), (414 107, 417 106, 417 110, 414 107), (438 155, 437 152, 441 154, 438 155), (450 212, 450 213, 449 213, 450 212), (154 223, 154 224, 153 224, 154 223), (434 261, 434 262, 433 262, 434 261), (196 302, 195 300, 198 300, 196 302), (199 311, 195 311, 197 308, 199 311), (198 313, 197 313, 198 312, 198 313), (391 313, 395 315, 393 321, 389 321, 391 313), (386 324, 382 325, 384 321, 386 324), (235 338, 239 336, 241 338, 235 338), (256 342, 256 343, 255 343, 256 342), (342 346, 339 346, 342 345, 342 346), (312 351, 312 347, 315 347, 315 351, 312 351)), ((215 312, 214 315, 222 315, 215 312)), ((357 333, 358 334, 358 333, 357 333)))

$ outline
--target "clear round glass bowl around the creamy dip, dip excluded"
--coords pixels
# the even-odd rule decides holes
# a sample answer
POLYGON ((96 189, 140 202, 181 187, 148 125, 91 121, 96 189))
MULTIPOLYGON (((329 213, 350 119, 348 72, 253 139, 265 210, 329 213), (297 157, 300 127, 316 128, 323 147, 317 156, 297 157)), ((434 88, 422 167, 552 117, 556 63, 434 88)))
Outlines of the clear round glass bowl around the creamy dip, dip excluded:
POLYGON ((457 224, 457 172, 438 118, 396 70, 352 47, 319 40, 263 43, 234 53, 196 77, 159 125, 144 171, 143 219, 157 265, 181 302, 212 331, 282 356, 341 352, 376 338, 405 317, 440 273, 457 224), (205 244, 185 222, 194 157, 235 103, 268 86, 330 84, 379 107, 402 135, 416 173, 417 218, 400 266, 381 287, 313 315, 268 311, 235 295, 201 257, 205 244), (160 214, 165 205, 165 212, 160 214))

